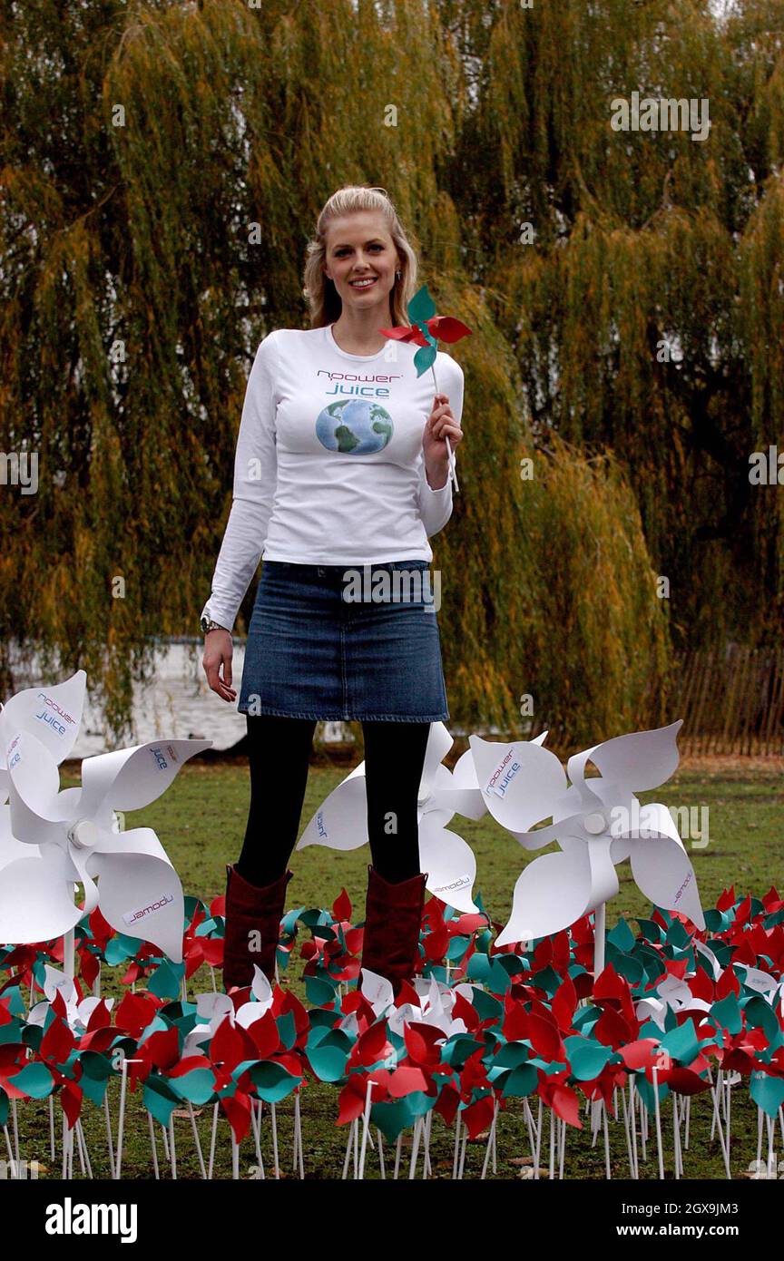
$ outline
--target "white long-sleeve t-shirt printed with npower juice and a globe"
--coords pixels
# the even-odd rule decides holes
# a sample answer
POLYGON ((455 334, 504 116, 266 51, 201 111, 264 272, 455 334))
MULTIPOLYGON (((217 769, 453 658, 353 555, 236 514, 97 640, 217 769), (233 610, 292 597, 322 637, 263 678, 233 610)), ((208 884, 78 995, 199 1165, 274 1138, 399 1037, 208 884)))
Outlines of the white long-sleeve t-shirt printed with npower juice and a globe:
MULTIPOLYGON (((432 560, 451 480, 427 482, 422 436, 432 373, 417 347, 389 340, 349 354, 331 325, 282 328, 260 343, 248 377, 229 518, 203 614, 231 630, 263 555, 306 565, 432 560)), ((463 415, 463 368, 436 356, 439 392, 463 415)))

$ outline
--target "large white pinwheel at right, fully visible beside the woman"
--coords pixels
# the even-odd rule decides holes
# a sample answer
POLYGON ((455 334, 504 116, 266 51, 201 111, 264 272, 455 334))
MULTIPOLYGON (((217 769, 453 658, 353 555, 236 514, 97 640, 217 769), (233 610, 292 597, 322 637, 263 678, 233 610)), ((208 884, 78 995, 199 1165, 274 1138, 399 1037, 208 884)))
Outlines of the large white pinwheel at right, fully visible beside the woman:
POLYGON ((528 850, 557 841, 560 852, 529 863, 514 885, 512 914, 497 946, 568 928, 619 889, 615 864, 631 861, 639 889, 658 907, 705 928, 697 879, 669 810, 634 796, 657 788, 678 765, 682 719, 619 735, 576 753, 568 781, 556 755, 536 743, 470 738, 488 810, 528 850), (589 759, 600 772, 585 778, 589 759), (529 828, 552 818, 546 827, 529 828))

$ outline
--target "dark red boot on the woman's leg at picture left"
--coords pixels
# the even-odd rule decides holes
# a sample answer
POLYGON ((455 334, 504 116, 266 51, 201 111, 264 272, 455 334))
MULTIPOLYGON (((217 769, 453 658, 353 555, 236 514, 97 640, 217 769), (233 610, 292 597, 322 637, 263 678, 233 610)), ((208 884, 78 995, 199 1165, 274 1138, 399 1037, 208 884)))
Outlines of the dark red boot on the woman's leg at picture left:
POLYGON ((271 984, 275 982, 275 953, 280 922, 286 904, 286 885, 294 871, 272 884, 258 886, 239 875, 236 866, 226 865, 226 937, 223 941, 223 987, 250 985, 253 963, 271 984), (252 950, 250 933, 258 933, 260 948, 252 950))

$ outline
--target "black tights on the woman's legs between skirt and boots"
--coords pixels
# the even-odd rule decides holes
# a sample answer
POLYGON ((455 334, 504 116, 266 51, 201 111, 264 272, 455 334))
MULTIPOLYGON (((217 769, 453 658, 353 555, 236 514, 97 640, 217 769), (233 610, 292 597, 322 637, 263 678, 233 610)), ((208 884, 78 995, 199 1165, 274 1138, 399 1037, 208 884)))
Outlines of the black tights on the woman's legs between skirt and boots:
MULTIPOLYGON (((296 845, 315 720, 246 714, 251 808, 237 870, 272 884, 296 845)), ((430 723, 363 723, 373 866, 396 884, 420 871, 417 794, 430 723)))

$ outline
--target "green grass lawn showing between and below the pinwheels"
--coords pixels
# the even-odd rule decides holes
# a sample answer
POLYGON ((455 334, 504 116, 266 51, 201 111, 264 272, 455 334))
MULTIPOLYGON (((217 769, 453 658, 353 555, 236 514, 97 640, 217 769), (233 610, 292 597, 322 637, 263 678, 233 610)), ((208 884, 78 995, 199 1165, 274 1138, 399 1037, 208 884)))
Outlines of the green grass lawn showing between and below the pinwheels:
MULTIPOLYGON (((313 812, 324 797, 348 774, 347 767, 339 769, 311 767, 301 827, 304 828, 313 812)), ((73 783, 64 777, 64 783, 73 783)), ((285 784, 274 786, 274 792, 285 791, 285 784)), ((214 763, 185 765, 171 788, 159 801, 146 810, 135 811, 125 820, 126 828, 149 826, 155 828, 171 861, 179 871, 187 894, 197 894, 205 902, 224 890, 224 864, 233 861, 245 836, 250 782, 246 764, 214 763)), ((739 764, 737 769, 710 773, 697 768, 682 769, 660 789, 645 793, 642 801, 663 801, 676 810, 696 807, 697 817, 702 807, 708 810, 708 842, 702 844, 697 836, 695 844, 686 841, 687 851, 695 865, 702 904, 712 907, 722 889, 734 884, 736 894, 752 893, 763 897, 771 884, 784 889, 784 782, 780 770, 770 769, 764 762, 739 764)), ((478 878, 475 892, 480 892, 483 902, 494 922, 503 926, 512 905, 512 890, 521 870, 521 863, 527 855, 518 844, 495 823, 488 815, 479 822, 455 817, 451 825, 470 842, 476 854, 478 878)), ((268 837, 258 836, 258 844, 267 844, 268 837)), ((354 908, 353 921, 364 919, 364 889, 369 849, 363 847, 350 852, 337 852, 311 846, 295 852, 290 864, 295 878, 289 884, 286 909, 292 907, 331 907, 335 897, 344 888, 354 908)), ((628 864, 619 869, 620 893, 608 907, 608 928, 611 928, 620 915, 633 918, 648 917, 650 904, 631 880, 628 864)), ((637 926, 633 926, 637 928, 637 926)), ((300 941, 305 941, 303 933, 300 941)), ((120 985, 103 970, 102 992, 120 995, 120 985)), ((289 965, 285 985, 305 1001, 301 981, 303 961, 299 958, 299 944, 289 965)), ((189 984, 189 997, 197 990, 212 987, 209 971, 197 975, 189 984), (195 982, 195 985, 194 985, 195 982)), ((110 1092, 117 1091, 112 1082, 110 1092)), ((116 1093, 110 1093, 112 1115, 116 1117, 116 1093)), ((533 1105, 532 1105, 533 1106, 533 1105)), ((620 1108, 620 1102, 619 1102, 620 1108)), ((59 1112, 59 1107, 58 1107, 59 1112)), ((536 1113, 536 1108, 534 1108, 536 1113)), ((306 1178, 342 1177, 348 1127, 337 1126, 338 1088, 320 1083, 308 1084, 301 1092, 301 1116, 304 1137, 304 1165, 306 1178)), ((280 1168, 281 1177, 292 1177, 291 1136, 294 1102, 286 1100, 277 1107, 280 1168)), ((664 1150, 667 1177, 673 1177, 673 1134, 669 1102, 664 1110, 664 1150)), ((49 1165, 48 1159, 48 1111, 45 1103, 25 1103, 20 1108, 23 1150, 28 1159, 37 1158, 49 1165)), ((199 1116, 202 1145, 209 1145, 209 1124, 212 1110, 205 1108, 199 1116)), ((591 1148, 587 1115, 582 1115, 585 1129, 577 1131, 567 1127, 565 1177, 584 1179, 604 1179, 604 1148, 601 1135, 596 1146, 591 1148)), ((93 1174, 107 1175, 106 1142, 102 1117, 91 1105, 84 1108, 84 1125, 89 1140, 93 1174)), ((708 1140, 711 1126, 711 1097, 702 1095, 692 1102, 689 1150, 684 1154, 687 1178, 723 1178, 723 1163, 718 1139, 708 1140)), ((178 1177, 199 1178, 190 1120, 185 1115, 175 1120, 178 1146, 178 1177)), ((159 1130, 160 1134, 160 1130, 159 1130)), ((221 1119, 218 1124, 218 1158, 214 1177, 231 1177, 231 1154, 228 1141, 228 1122, 221 1119)), ((546 1127, 542 1150, 542 1164, 547 1164, 550 1150, 550 1130, 546 1127)), ((776 1151, 780 1154, 780 1144, 776 1151)), ((528 1142, 523 1122, 522 1100, 513 1100, 499 1115, 498 1122, 498 1166, 492 1168, 490 1178, 519 1177, 519 1158, 528 1155, 528 1142)), ((440 1117, 434 1117, 431 1135, 432 1177, 451 1178, 454 1131, 447 1129, 440 1117)), ((410 1136, 403 1137, 403 1153, 410 1150, 410 1136)), ((484 1142, 469 1144, 466 1153, 466 1177, 478 1177, 484 1159, 484 1142)), ((613 1158, 613 1177, 626 1178, 629 1166, 625 1155, 623 1122, 610 1125, 610 1151, 613 1158)), ((159 1154, 163 1163, 163 1151, 159 1154)), ((262 1126, 262 1154, 267 1177, 272 1169, 272 1140, 268 1127, 268 1111, 265 1110, 262 1126)), ((756 1155, 756 1108, 747 1097, 746 1083, 735 1088, 732 1096, 732 1144, 731 1168, 734 1177, 746 1177, 749 1161, 756 1155)), ((392 1168, 393 1149, 386 1145, 384 1160, 387 1174, 392 1168)), ((255 1165, 252 1137, 248 1137, 241 1151, 241 1177, 251 1177, 255 1165)), ((169 1177, 168 1166, 161 1164, 164 1177, 169 1177)), ((74 1173, 77 1161, 74 1160, 74 1173)), ((421 1158, 420 1158, 421 1171, 421 1158)), ((377 1153, 368 1153, 366 1175, 379 1177, 377 1153)), ((408 1175, 406 1159, 401 1165, 401 1177, 408 1175)), ((50 1177, 59 1177, 59 1168, 50 1170, 50 1177)), ((124 1177, 150 1178, 153 1165, 147 1134, 146 1113, 141 1108, 140 1096, 129 1095, 126 1117, 126 1137, 124 1154, 124 1177)), ((350 1177, 350 1170, 349 1170, 350 1177)), ((640 1164, 642 1178, 657 1178, 655 1131, 652 1129, 648 1145, 648 1159, 640 1164), (652 1140, 652 1141, 650 1141, 652 1140)))

